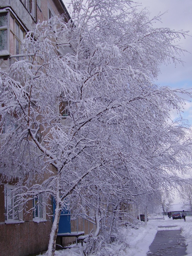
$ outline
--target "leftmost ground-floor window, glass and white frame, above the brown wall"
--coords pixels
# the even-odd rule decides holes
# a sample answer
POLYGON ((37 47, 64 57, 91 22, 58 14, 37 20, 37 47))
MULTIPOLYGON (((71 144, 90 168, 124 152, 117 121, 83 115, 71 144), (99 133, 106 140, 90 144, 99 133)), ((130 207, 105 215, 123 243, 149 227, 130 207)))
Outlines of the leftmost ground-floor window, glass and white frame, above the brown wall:
POLYGON ((14 186, 5 185, 5 222, 21 222, 23 219, 22 211, 19 212, 19 206, 17 203, 17 196, 14 196, 13 192, 14 186))

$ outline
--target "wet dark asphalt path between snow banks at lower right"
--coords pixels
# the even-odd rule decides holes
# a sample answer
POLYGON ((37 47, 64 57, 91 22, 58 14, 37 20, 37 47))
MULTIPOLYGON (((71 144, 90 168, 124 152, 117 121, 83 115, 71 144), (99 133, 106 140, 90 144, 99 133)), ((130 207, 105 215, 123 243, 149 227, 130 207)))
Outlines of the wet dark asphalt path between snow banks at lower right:
MULTIPOLYGON (((172 228, 176 226, 161 226, 158 228, 172 228)), ((157 231, 149 247, 147 256, 183 256, 186 255, 185 239, 180 230, 157 231)))

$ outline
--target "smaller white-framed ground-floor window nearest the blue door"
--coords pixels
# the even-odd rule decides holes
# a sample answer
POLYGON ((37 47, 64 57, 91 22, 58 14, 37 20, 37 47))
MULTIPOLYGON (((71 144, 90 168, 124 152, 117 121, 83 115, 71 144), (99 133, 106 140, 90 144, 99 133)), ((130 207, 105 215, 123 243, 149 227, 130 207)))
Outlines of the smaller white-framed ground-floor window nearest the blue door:
POLYGON ((46 206, 43 195, 35 196, 33 198, 33 221, 41 222, 46 220, 46 206), (42 213, 41 213, 42 211, 42 213))

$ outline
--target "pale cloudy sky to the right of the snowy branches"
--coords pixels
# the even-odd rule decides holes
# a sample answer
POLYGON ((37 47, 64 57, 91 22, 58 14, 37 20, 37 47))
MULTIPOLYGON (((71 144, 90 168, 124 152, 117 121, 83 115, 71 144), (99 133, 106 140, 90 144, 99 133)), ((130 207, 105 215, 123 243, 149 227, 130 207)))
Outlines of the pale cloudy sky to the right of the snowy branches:
MULTIPOLYGON (((63 0, 66 7, 70 0, 63 0)), ((158 15, 159 12, 166 12, 161 22, 154 24, 154 27, 168 27, 174 30, 189 31, 186 39, 180 40, 180 46, 188 52, 180 58, 185 62, 184 66, 173 64, 161 67, 161 74, 158 76, 157 84, 160 86, 170 86, 172 88, 192 88, 192 1, 191 0, 139 0, 141 7, 146 7, 150 13, 150 18, 158 15), (191 31, 190 31, 191 30, 191 31)), ((189 99, 190 100, 190 99, 189 99)), ((173 118, 177 113, 172 114, 173 118)), ((186 101, 183 118, 189 120, 192 125, 192 102, 186 101)))

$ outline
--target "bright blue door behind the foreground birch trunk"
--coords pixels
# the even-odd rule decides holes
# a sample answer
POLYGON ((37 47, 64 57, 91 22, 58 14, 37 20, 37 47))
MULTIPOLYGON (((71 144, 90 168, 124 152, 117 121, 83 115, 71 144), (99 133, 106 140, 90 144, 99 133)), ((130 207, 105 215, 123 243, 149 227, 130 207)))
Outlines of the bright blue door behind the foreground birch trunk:
MULTIPOLYGON (((56 203, 55 199, 53 198, 53 221, 55 218, 55 208, 56 203)), ((59 230, 58 234, 60 233, 71 233, 71 215, 68 210, 65 208, 61 211, 60 219, 59 219, 59 230)))

